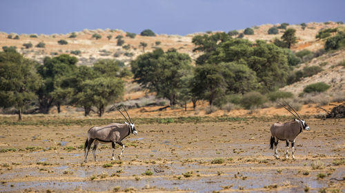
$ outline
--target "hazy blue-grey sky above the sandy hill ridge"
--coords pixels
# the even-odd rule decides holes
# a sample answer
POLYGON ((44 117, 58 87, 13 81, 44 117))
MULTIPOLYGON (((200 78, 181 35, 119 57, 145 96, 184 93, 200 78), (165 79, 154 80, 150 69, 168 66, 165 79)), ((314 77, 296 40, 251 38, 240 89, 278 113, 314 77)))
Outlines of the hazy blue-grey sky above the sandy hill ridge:
POLYGON ((186 35, 266 23, 345 22, 344 0, 0 0, 0 31, 119 29, 186 35))

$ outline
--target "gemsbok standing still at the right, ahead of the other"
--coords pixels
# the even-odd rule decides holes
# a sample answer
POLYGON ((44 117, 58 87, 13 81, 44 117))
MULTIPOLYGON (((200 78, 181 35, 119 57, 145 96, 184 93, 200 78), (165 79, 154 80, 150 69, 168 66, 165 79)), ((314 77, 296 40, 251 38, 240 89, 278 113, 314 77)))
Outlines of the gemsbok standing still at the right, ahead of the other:
POLYGON ((270 134, 272 135, 270 137, 270 149, 273 149, 273 151, 275 152, 275 157, 277 159, 279 159, 278 156, 278 152, 277 152, 277 145, 278 145, 278 141, 282 140, 282 141, 286 141, 286 159, 288 158, 288 144, 289 142, 291 142, 291 148, 293 149, 293 159, 295 159, 295 140, 296 137, 299 135, 299 133, 302 133, 302 130, 309 130, 309 126, 306 124, 306 122, 304 120, 302 120, 301 117, 299 117, 299 115, 297 114, 297 112, 295 111, 295 109, 293 109, 293 107, 291 107, 287 102, 285 102, 290 109, 292 109, 296 115, 294 113, 292 113, 288 108, 286 108, 286 106, 282 105, 286 110, 288 110, 288 112, 290 112, 291 114, 293 114, 293 116, 295 116, 295 120, 293 120, 292 122, 287 122, 287 123, 275 123, 273 124, 273 126, 270 127, 270 134))

